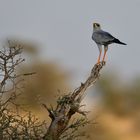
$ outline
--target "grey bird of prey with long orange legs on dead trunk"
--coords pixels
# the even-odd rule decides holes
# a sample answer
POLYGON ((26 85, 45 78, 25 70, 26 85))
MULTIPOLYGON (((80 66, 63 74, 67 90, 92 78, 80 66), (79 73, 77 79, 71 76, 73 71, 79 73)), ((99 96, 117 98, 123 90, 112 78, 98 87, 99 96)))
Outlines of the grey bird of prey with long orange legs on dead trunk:
POLYGON ((110 33, 102 30, 101 25, 99 23, 93 23, 92 39, 95 41, 99 49, 99 56, 98 56, 97 64, 100 63, 100 58, 102 55, 102 46, 104 46, 104 55, 103 55, 102 61, 105 62, 106 52, 110 44, 117 43, 121 45, 127 45, 126 43, 123 43, 119 39, 112 36, 110 33))

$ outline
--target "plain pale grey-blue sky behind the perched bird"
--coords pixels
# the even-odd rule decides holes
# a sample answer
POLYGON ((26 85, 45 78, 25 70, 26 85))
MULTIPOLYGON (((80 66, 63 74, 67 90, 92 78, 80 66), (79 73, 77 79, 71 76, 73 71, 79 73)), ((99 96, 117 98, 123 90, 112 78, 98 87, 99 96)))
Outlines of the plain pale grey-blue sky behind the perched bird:
POLYGON ((124 79, 140 74, 140 0, 0 0, 0 41, 10 37, 35 41, 42 60, 55 61, 82 82, 97 61, 91 39, 99 22, 127 46, 112 44, 105 71, 124 79))

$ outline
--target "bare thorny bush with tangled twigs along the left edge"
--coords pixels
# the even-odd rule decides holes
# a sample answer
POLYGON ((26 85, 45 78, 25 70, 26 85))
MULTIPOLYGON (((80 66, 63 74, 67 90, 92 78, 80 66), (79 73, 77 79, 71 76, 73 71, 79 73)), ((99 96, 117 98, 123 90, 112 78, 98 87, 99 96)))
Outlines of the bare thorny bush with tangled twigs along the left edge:
POLYGON ((22 92, 22 76, 35 74, 16 74, 16 67, 24 62, 22 50, 22 45, 17 41, 7 41, 7 46, 0 50, 0 140, 41 140, 46 130, 45 122, 40 122, 30 112, 24 112, 23 116, 11 107, 19 107, 14 101, 22 92), (10 93, 10 96, 7 97, 6 93, 10 93))

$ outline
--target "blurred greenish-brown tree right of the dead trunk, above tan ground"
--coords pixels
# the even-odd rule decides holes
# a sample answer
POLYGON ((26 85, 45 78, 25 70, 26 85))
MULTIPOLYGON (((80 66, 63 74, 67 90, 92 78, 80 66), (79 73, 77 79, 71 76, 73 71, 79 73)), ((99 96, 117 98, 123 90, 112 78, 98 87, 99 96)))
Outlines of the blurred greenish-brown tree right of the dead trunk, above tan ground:
POLYGON ((107 75, 99 81, 98 89, 102 93, 104 108, 116 115, 131 115, 140 109, 140 78, 124 85, 121 78, 107 75))

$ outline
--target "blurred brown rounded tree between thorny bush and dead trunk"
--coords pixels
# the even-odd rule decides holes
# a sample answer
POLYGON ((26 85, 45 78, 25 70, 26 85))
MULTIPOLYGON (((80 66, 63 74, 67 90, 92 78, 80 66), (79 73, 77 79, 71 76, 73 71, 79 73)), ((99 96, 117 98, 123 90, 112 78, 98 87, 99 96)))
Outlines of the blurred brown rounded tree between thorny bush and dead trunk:
POLYGON ((40 103, 53 104, 55 97, 66 93, 69 90, 68 75, 59 66, 53 63, 42 63, 22 66, 23 73, 27 71, 36 72, 35 75, 25 79, 24 91, 19 102, 40 109, 40 103))

